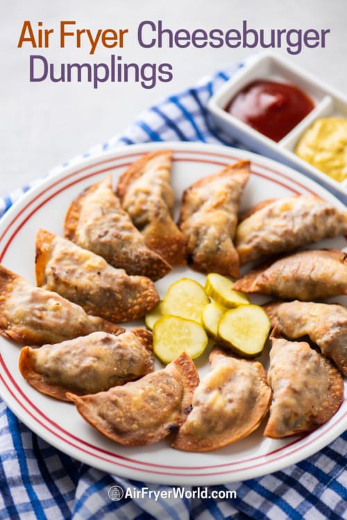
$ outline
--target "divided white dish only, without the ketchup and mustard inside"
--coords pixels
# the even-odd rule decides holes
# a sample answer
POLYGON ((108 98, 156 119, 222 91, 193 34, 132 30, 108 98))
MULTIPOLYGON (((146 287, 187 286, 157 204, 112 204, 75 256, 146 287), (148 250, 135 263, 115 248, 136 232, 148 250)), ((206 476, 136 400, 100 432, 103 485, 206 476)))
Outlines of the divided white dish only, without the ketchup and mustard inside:
POLYGON ((250 150, 276 159, 291 166, 291 168, 296 168, 296 170, 330 189, 345 203, 347 202, 347 180, 337 182, 337 180, 298 157, 294 151, 303 132, 316 119, 327 116, 347 118, 347 97, 343 94, 336 92, 332 87, 325 85, 318 78, 279 55, 262 52, 246 60, 244 66, 210 98, 208 110, 214 123, 221 130, 240 141, 250 150), (246 85, 258 79, 292 83, 314 101, 314 109, 278 142, 262 135, 226 111, 226 107, 232 98, 246 85))

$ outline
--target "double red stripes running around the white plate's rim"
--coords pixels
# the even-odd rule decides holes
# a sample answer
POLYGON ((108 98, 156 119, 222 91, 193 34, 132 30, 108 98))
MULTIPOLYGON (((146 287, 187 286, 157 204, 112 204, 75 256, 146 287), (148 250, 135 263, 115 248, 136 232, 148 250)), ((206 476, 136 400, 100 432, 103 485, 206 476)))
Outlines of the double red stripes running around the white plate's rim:
MULTIPOLYGON (((203 152, 203 151, 189 151, 187 149, 184 150, 174 150, 176 153, 176 157, 174 156, 174 162, 201 162, 205 164, 216 164, 218 166, 226 166, 230 163, 230 159, 239 160, 239 157, 234 157, 231 155, 224 155, 222 153, 210 153, 210 152, 203 152), (194 157, 187 156, 187 154, 194 154, 194 157), (178 155, 179 154, 179 155, 178 155), (196 157, 198 156, 198 157, 196 157), (209 157, 208 159, 206 157, 209 157), (211 159, 210 157, 216 157, 216 159, 211 159)), ((117 150, 115 150, 115 157, 104 159, 102 161, 94 162, 92 164, 89 164, 87 166, 83 166, 81 168, 78 168, 74 171, 71 171, 69 174, 64 175, 63 177, 60 177, 58 180, 51 182, 48 187, 45 187, 35 195, 34 198, 29 200, 26 205, 22 209, 19 210, 19 212, 12 218, 10 223, 7 225, 6 229, 0 236, 0 241, 3 240, 3 238, 6 236, 6 234, 10 231, 11 227, 17 224, 19 216, 24 214, 24 212, 37 202, 37 205, 33 207, 33 209, 30 211, 28 215, 25 216, 24 220, 20 222, 17 227, 15 227, 15 230, 10 235, 8 241, 3 247, 3 250, 0 254, 0 261, 3 259, 4 255, 6 254, 6 251, 10 247, 10 244, 12 243, 13 239, 15 239, 15 236, 19 232, 19 229, 21 229, 25 223, 30 220, 30 218, 35 214, 41 207, 43 207, 47 202, 52 200, 54 197, 56 197, 59 193, 62 193, 66 189, 69 189, 69 187, 74 186, 74 184, 78 184, 79 182, 82 182, 83 180, 94 177, 95 175, 99 175, 101 173, 106 173, 110 170, 118 169, 118 168, 125 168, 128 166, 131 162, 134 161, 135 157, 140 157, 144 154, 144 152, 138 152, 138 153, 128 153, 123 155, 117 155, 117 150), (115 164, 117 162, 117 164, 115 164), (112 163, 112 164, 110 164, 112 163), (104 166, 105 164, 110 164, 106 168, 99 168, 99 166, 104 166), (94 169, 98 168, 98 169, 94 169), (81 175, 83 172, 88 172, 85 175, 81 175), (74 180, 73 180, 74 179, 74 180), (68 182, 68 184, 65 184, 64 186, 61 186, 63 182, 67 182, 71 180, 71 182, 68 182), (45 193, 48 193, 55 187, 59 187, 56 189, 56 191, 53 191, 53 193, 50 193, 49 196, 44 198, 44 200, 40 200, 42 196, 45 195, 45 193)), ((257 175, 258 177, 265 178, 266 180, 271 180, 271 182, 274 182, 276 184, 279 184, 282 187, 285 187, 286 189, 289 189, 292 193, 302 193, 304 192, 310 192, 313 194, 314 191, 311 189, 308 189, 305 187, 304 184, 301 182, 298 182, 297 180, 291 179, 289 175, 279 172, 276 169, 270 168, 269 166, 263 166, 262 164, 259 164, 257 162, 251 161, 252 165, 252 174, 257 175), (269 173, 275 173, 278 177, 281 178, 273 178, 271 175, 266 175, 265 173, 262 173, 260 171, 255 171, 254 167, 261 168, 262 171, 269 171, 269 173), (283 180, 282 180, 283 179, 283 180), (292 186, 289 186, 286 184, 286 181, 290 181, 290 184, 294 184, 294 186, 297 186, 298 189, 295 189, 292 186)), ((139 470, 138 466, 142 466, 143 470, 151 473, 151 474, 163 474, 163 475, 170 475, 170 476, 214 476, 219 474, 230 474, 237 471, 240 471, 241 469, 255 469, 262 467, 264 465, 269 464, 269 462, 274 462, 276 460, 280 460, 282 458, 287 458, 287 456, 292 455, 293 453, 297 453, 298 451, 301 451, 305 449, 307 446, 312 444, 312 442, 316 442, 319 437, 322 437, 330 431, 332 428, 334 428, 337 424, 331 423, 328 428, 325 428, 324 432, 317 435, 317 431, 315 431, 313 434, 306 435, 305 437, 297 438, 296 440, 293 440, 292 442, 289 442, 289 444, 286 444, 283 447, 280 447, 278 449, 275 449, 273 451, 270 451, 269 453, 265 453, 261 456, 253 456, 250 458, 245 458, 243 460, 238 460, 236 462, 226 462, 220 465, 206 465, 206 466, 192 466, 192 467, 181 467, 181 466, 170 466, 170 465, 160 465, 155 464, 151 462, 143 462, 140 460, 134 460, 132 458, 128 458, 125 456, 120 456, 117 453, 112 453, 110 451, 107 451, 105 449, 102 449, 100 447, 94 446, 90 442, 86 442, 85 440, 82 440, 81 438, 77 437, 76 435, 73 435, 69 431, 66 431, 62 426, 57 424, 55 421, 47 417, 40 408, 37 408, 33 401, 28 398, 22 391, 22 389, 19 387, 18 383, 15 381, 15 379, 12 377, 12 374, 10 374, 8 367, 3 360, 3 357, 0 355, 0 363, 3 366, 3 369, 6 373, 6 376, 8 378, 8 381, 10 384, 12 384, 13 389, 11 388, 10 384, 8 384, 8 381, 0 374, 0 379, 3 381, 3 384, 7 388, 8 392, 12 396, 13 399, 17 402, 17 404, 24 410, 24 412, 33 419, 37 424, 40 425, 40 427, 44 428, 47 432, 51 433, 52 435, 56 436, 58 439, 62 440, 62 442, 65 442, 70 447, 73 447, 74 449, 81 451, 81 453, 86 453, 88 456, 91 456, 92 458, 98 459, 100 461, 105 462, 111 462, 112 464, 119 465, 120 467, 125 467, 127 469, 132 469, 135 471, 142 471, 142 469, 139 470), (25 404, 24 404, 25 403, 25 404), (303 440, 307 438, 307 442, 303 442, 303 440), (76 444, 78 442, 78 444, 76 444), (297 446, 298 443, 301 443, 300 446, 297 446), (81 444, 81 445, 79 445, 81 444), (93 451, 91 451, 91 449, 93 451), (96 453, 94 453, 96 452, 96 453), (285 452, 285 453, 283 453, 285 452), (265 459, 265 460, 264 460, 265 459), (257 462, 258 461, 258 462, 257 462), (133 464, 137 465, 137 467, 133 466, 133 464), (239 466, 243 465, 242 468, 239 466), (232 467, 237 466, 237 468, 232 469, 232 467), (222 469, 223 468, 223 469, 222 469), (162 471, 160 471, 162 469, 162 471), (213 471, 214 469, 219 469, 220 471, 213 471), (167 470, 167 471, 164 471, 167 470), (169 471, 171 470, 171 471, 169 471), (176 473, 177 470, 185 470, 182 473, 176 473), (194 473, 194 470, 196 471, 194 473), (203 470, 209 470, 208 472, 202 473, 203 470), (192 471, 191 473, 187 471, 192 471)), ((345 416, 346 414, 344 414, 345 416)), ((341 420, 341 419, 339 419, 341 420)), ((321 430, 321 428, 319 428, 321 430)), ((319 431, 318 430, 318 431, 319 431)))

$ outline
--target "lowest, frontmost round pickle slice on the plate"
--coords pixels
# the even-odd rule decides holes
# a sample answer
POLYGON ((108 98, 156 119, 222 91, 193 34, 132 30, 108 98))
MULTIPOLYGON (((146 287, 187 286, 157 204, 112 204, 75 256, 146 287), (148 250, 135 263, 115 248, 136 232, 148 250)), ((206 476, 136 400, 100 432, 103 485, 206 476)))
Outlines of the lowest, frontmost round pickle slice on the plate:
POLYGON ((180 316, 165 315, 153 327, 153 352, 162 363, 174 361, 181 352, 194 359, 203 354, 208 335, 202 325, 180 316))

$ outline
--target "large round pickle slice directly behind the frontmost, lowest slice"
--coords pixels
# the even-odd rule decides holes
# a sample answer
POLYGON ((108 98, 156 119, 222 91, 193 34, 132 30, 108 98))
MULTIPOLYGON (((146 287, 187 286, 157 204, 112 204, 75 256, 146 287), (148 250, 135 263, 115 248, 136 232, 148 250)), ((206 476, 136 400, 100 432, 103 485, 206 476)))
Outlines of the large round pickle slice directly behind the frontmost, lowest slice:
POLYGON ((200 323, 201 311, 210 298, 198 281, 181 278, 169 286, 162 300, 162 314, 171 314, 200 323))

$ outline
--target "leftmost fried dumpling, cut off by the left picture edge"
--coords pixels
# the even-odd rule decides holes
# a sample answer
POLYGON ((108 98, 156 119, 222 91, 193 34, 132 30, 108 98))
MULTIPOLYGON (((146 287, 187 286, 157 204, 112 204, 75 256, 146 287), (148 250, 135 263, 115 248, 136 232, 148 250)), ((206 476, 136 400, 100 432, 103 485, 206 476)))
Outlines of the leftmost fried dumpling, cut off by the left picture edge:
POLYGON ((124 328, 53 291, 31 285, 22 276, 0 266, 0 333, 24 345, 44 345, 85 336, 94 331, 112 334, 124 328))

